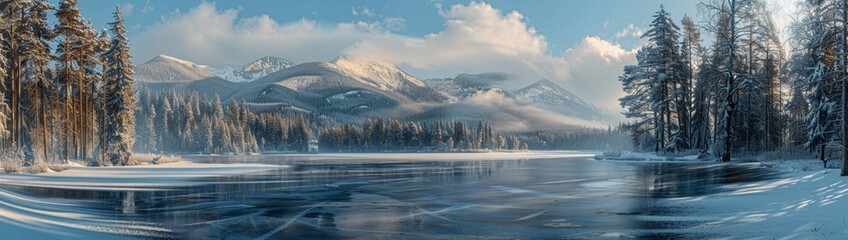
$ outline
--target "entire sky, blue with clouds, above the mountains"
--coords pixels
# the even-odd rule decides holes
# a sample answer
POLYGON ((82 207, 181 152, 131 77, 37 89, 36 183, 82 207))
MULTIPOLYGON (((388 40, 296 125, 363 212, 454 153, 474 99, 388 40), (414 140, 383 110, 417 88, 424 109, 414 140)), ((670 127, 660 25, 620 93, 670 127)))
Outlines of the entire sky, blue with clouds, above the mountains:
MULTIPOLYGON (((769 1, 778 25, 787 25, 797 0, 769 1)), ((505 72, 513 76, 508 88, 550 79, 613 112, 623 95, 617 77, 635 63, 660 5, 674 19, 701 19, 694 0, 104 2, 79 7, 106 27, 121 6, 136 64, 159 54, 212 66, 349 55, 391 62, 418 78, 505 72)))

